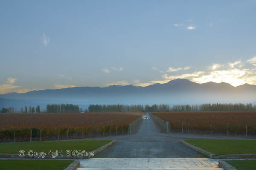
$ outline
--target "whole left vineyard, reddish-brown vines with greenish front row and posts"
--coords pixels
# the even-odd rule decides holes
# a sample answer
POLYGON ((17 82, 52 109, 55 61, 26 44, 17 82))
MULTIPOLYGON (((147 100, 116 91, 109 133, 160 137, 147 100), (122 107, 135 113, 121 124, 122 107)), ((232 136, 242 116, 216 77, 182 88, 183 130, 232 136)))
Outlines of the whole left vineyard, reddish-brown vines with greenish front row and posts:
POLYGON ((2 142, 78 139, 127 134, 143 113, 0 114, 2 142))

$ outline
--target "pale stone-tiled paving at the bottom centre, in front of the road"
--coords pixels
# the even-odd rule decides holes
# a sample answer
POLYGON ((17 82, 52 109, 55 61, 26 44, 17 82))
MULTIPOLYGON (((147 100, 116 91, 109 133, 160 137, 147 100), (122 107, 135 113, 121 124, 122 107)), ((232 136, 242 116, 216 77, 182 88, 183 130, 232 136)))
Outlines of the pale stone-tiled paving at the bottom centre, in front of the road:
POLYGON ((77 170, 223 170, 209 158, 91 158, 77 170))

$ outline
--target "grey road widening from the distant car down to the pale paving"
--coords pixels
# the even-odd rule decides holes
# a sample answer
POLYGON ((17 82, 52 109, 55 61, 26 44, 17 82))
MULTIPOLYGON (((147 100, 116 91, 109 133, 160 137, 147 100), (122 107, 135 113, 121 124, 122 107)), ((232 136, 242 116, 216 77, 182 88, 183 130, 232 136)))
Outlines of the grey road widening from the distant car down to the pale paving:
POLYGON ((180 143, 180 139, 160 133, 147 113, 136 134, 122 136, 106 136, 96 139, 114 139, 116 143, 98 153, 103 158, 184 158, 203 157, 201 153, 180 143))

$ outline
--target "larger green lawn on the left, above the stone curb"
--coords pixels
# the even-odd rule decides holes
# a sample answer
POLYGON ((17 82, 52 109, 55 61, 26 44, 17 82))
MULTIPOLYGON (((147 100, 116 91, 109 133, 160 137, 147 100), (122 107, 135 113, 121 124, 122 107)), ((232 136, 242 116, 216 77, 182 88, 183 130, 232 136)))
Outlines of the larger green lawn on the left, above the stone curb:
POLYGON ((17 142, 17 143, 0 143, 0 153, 17 154, 24 150, 27 154, 29 150, 35 151, 63 151, 66 150, 85 150, 93 151, 101 147, 110 140, 77 140, 77 141, 54 141, 54 142, 17 142))

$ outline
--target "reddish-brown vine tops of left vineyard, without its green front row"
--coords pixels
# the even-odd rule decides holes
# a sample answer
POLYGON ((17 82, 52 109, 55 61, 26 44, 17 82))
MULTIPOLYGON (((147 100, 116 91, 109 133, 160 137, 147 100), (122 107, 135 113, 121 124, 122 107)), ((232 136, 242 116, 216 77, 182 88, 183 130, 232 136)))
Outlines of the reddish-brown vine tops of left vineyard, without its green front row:
POLYGON ((0 114, 0 130, 20 128, 64 128, 82 126, 128 125, 143 113, 26 113, 0 114))

